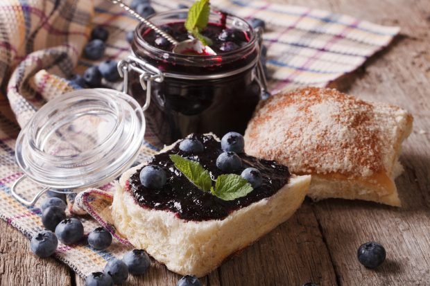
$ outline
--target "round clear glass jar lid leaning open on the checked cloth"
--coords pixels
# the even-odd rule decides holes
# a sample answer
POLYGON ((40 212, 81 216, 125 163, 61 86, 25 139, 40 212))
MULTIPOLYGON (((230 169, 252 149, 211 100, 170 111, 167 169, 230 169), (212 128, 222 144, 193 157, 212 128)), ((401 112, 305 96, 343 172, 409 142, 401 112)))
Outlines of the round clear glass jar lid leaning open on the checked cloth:
POLYGON ((112 89, 78 89, 47 102, 17 138, 24 175, 54 189, 102 186, 139 154, 145 118, 137 101, 112 89))

